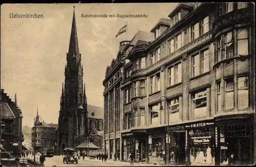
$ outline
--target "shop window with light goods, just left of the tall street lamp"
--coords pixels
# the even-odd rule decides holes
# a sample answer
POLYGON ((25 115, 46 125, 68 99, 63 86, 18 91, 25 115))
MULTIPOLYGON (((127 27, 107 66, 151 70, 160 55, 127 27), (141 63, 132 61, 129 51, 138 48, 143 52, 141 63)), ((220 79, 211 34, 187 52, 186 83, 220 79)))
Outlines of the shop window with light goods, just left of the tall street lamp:
POLYGON ((163 164, 165 154, 165 133, 148 134, 148 163, 163 164))

